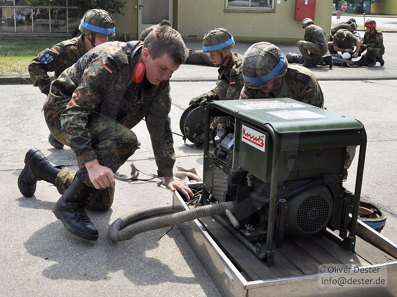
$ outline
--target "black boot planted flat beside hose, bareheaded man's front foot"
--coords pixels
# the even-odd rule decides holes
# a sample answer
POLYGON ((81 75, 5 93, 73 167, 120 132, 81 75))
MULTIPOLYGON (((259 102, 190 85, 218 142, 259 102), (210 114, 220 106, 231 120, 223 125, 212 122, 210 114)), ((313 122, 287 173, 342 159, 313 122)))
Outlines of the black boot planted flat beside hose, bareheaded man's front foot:
POLYGON ((64 195, 59 198, 53 212, 67 231, 83 239, 94 241, 98 239, 98 230, 84 209, 92 191, 94 188, 88 187, 75 176, 64 195))

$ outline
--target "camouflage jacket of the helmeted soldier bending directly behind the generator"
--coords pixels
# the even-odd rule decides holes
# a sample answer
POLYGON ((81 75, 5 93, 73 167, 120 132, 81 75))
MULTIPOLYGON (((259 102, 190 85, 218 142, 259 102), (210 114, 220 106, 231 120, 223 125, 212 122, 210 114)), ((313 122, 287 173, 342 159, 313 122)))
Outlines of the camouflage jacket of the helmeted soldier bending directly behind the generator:
POLYGON ((251 89, 247 86, 241 91, 240 99, 261 98, 291 98, 321 108, 324 106, 323 91, 313 72, 296 64, 288 65, 277 93, 266 94, 261 89, 251 89))

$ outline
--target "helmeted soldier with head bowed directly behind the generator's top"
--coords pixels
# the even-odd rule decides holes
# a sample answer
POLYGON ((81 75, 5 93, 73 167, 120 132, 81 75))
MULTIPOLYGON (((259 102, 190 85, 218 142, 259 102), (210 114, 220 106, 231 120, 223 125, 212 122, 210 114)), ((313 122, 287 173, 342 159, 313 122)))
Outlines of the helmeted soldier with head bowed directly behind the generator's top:
POLYGON ((289 65, 282 51, 268 42, 252 45, 243 59, 244 88, 240 99, 291 98, 323 108, 324 96, 311 72, 289 65))

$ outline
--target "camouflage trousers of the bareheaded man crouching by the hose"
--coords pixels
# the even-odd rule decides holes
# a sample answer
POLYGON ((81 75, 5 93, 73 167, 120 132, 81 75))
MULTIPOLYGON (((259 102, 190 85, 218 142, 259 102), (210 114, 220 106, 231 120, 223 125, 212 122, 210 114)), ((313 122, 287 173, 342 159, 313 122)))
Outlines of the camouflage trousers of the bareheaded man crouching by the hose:
MULTIPOLYGON (((62 133, 60 120, 64 108, 44 108, 43 111, 51 134, 59 142, 69 146, 62 133)), ((116 172, 138 147, 138 140, 131 129, 100 113, 94 112, 87 126, 91 134, 91 146, 95 150, 98 162, 113 172, 116 172)), ((87 186, 93 187, 84 164, 78 164, 77 172, 65 167, 58 173, 55 186, 60 194, 65 192, 75 175, 87 186)), ((95 189, 88 198, 89 207, 95 210, 109 209, 113 203, 113 196, 114 188, 95 189)))

